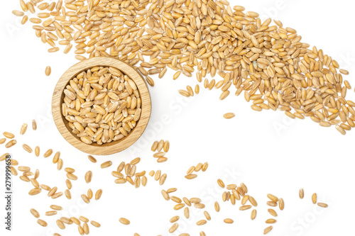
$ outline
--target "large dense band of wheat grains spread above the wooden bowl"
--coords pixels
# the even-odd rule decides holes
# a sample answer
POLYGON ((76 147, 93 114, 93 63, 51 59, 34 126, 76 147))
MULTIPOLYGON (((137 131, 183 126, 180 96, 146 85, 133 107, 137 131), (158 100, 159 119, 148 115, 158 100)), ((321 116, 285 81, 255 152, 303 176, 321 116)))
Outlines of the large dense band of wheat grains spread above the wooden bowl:
MULTIPOLYGON (((255 111, 308 116, 323 127, 336 125, 342 134, 355 127, 355 103, 345 99, 351 86, 342 77, 349 72, 323 50, 301 43, 295 29, 280 21, 272 25, 271 18, 262 22, 243 6, 232 8, 226 0, 39 2, 21 0, 23 11, 13 14, 26 23, 40 11, 29 21, 51 46, 48 52, 60 50, 59 44, 67 53, 75 45, 78 60, 85 54, 116 57, 135 66, 152 86, 151 75, 161 78, 168 67, 177 71, 173 79, 197 71, 202 82, 218 74, 221 79, 205 78, 204 88, 220 89, 219 99, 235 89, 236 96, 244 91, 255 111)), ((180 94, 192 96, 192 88, 180 94)))

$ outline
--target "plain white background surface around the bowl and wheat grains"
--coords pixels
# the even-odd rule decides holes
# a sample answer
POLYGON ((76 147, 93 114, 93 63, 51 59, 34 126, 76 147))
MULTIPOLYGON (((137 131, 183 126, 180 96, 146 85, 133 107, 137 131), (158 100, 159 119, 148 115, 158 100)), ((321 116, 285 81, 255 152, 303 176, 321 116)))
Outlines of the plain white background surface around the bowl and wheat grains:
MULTIPOLYGON (((240 0, 231 5, 246 7, 246 11, 261 13, 283 21, 285 27, 292 27, 302 35, 302 42, 317 45, 324 53, 331 55, 350 72, 355 70, 354 49, 354 3, 352 1, 306 1, 306 0, 240 0)), ((16 133, 18 144, 9 150, 20 165, 28 165, 33 171, 40 169, 40 184, 58 186, 65 190, 65 172, 58 172, 52 157, 44 159, 45 150, 52 148, 61 152, 64 167, 73 167, 79 176, 72 181, 72 200, 65 196, 51 199, 45 191, 38 196, 28 196, 30 183, 13 177, 13 231, 4 230, 4 198, 0 193, 0 235, 78 235, 77 226, 69 225, 60 230, 55 220, 60 216, 84 215, 102 224, 97 229, 90 227, 90 235, 168 235, 172 225, 169 219, 180 215, 181 225, 177 232, 199 235, 262 235, 267 226, 266 194, 283 197, 285 210, 277 217, 271 235, 350 235, 354 230, 354 131, 346 136, 335 128, 321 128, 307 120, 289 120, 281 111, 252 111, 250 103, 243 96, 234 96, 234 91, 224 101, 219 101, 220 91, 202 91, 192 99, 182 99, 178 89, 187 84, 195 86, 195 77, 180 77, 173 81, 173 72, 168 70, 163 79, 155 79, 155 86, 149 88, 152 99, 151 121, 141 139, 129 150, 107 157, 97 157, 93 164, 84 154, 70 146, 55 128, 50 112, 53 89, 58 78, 67 68, 76 63, 74 55, 62 52, 50 54, 48 45, 35 37, 31 24, 21 26, 21 18, 11 14, 20 9, 18 1, 6 1, 0 8, 1 18, 1 86, 0 104, 1 133, 16 133), (52 67, 50 77, 45 77, 45 67, 52 67), (225 120, 226 112, 236 117, 225 120), (168 118, 168 119, 166 119, 168 118), (26 135, 19 135, 22 123, 31 124, 38 120, 38 130, 28 128, 26 135), (168 120, 168 121, 167 121, 168 120), (170 140, 168 162, 158 164, 150 151, 154 140, 170 140), (23 143, 40 146, 41 155, 35 157, 22 149, 23 143), (129 162, 141 157, 138 171, 161 169, 168 174, 163 186, 148 176, 147 186, 134 189, 130 184, 114 184, 111 171, 120 162, 129 162), (100 169, 102 162, 111 160, 113 165, 100 169), (187 180, 185 172, 191 165, 209 162, 207 172, 199 172, 197 179, 187 180), (84 183, 84 173, 93 172, 91 184, 84 183), (222 203, 222 189, 217 179, 226 184, 244 182, 249 193, 258 201, 256 220, 250 220, 250 211, 238 210, 240 203, 231 206, 222 203), (185 220, 182 210, 175 211, 173 201, 165 201, 161 189, 176 187, 173 196, 201 197, 207 205, 212 221, 197 226, 197 220, 204 219, 202 211, 191 213, 192 220, 185 220), (80 194, 88 188, 103 189, 102 198, 89 205, 82 202, 80 194), (298 198, 298 190, 305 189, 305 199, 298 198), (311 202, 316 192, 321 201, 329 203, 323 210, 311 202), (213 202, 219 201, 220 213, 215 213, 213 202), (45 216, 51 204, 65 208, 62 215, 45 216), (40 227, 30 213, 35 208, 40 212, 48 227, 40 227), (122 225, 119 218, 131 220, 131 225, 122 225), (226 225, 224 218, 234 219, 226 225), (54 230, 54 231, 53 231, 54 230), (237 230, 237 231, 236 231, 237 230)), ((345 77, 354 86, 353 75, 345 77)), ((347 98, 354 99, 354 91, 347 98)), ((29 125, 31 126, 31 125, 29 125)), ((8 152, 0 146, 1 154, 8 152)), ((0 189, 4 191, 4 162, 0 163, 0 189)), ((64 168, 63 168, 64 169, 64 168)))

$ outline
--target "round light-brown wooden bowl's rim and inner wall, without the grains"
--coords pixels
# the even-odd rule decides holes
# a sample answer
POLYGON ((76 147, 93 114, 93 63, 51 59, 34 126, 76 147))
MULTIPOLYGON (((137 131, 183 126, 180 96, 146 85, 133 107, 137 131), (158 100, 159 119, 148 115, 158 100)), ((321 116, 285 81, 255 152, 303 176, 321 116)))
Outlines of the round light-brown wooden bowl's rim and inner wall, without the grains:
POLYGON ((140 74, 138 74, 138 72, 136 72, 135 69, 133 69, 133 67, 131 67, 131 65, 110 57, 92 57, 73 65, 62 75, 62 77, 60 77, 53 92, 52 113, 55 125, 57 125, 60 134, 65 138, 65 140, 67 140, 67 142, 76 147, 78 150, 95 155, 114 154, 133 145, 133 143, 136 142, 136 140, 138 140, 138 138, 143 134, 148 124, 148 120, 151 117, 151 96, 149 95, 145 80, 140 74), (133 130, 131 130, 129 135, 126 137, 121 140, 104 143, 103 145, 97 145, 96 142, 91 145, 87 145, 82 142, 77 135, 71 132, 68 121, 65 120, 64 116, 62 116, 62 103, 65 97, 64 90, 67 84, 69 84, 70 79, 76 77, 77 74, 80 74, 80 72, 96 66, 115 67, 129 76, 133 82, 136 83, 141 96, 142 111, 141 118, 139 118, 136 123, 136 127, 133 128, 133 130))

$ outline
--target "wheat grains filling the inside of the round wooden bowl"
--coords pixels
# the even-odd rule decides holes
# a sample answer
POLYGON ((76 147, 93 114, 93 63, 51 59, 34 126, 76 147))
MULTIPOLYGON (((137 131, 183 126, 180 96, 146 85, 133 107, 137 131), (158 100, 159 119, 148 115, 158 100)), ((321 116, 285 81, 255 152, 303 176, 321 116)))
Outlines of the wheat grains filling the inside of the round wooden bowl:
POLYGON ((64 90, 62 115, 86 144, 121 140, 141 117, 136 83, 114 67, 92 67, 71 79, 64 90))

